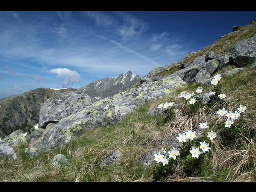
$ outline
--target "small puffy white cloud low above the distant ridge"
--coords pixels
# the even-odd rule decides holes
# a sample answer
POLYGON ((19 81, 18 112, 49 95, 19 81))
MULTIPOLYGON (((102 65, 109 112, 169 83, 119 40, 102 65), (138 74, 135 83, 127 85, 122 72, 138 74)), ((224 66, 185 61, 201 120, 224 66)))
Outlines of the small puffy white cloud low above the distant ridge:
POLYGON ((73 85, 75 82, 81 80, 80 75, 75 70, 69 70, 67 68, 56 68, 51 69, 48 72, 57 74, 56 78, 64 79, 62 81, 62 88, 67 88, 69 85, 73 85))

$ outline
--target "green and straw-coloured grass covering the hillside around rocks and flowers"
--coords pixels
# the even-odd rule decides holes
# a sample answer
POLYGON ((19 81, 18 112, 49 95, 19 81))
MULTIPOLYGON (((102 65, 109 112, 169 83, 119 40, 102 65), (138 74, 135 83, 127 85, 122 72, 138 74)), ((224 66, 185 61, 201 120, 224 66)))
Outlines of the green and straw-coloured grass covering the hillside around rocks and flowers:
MULTIPOLYGON (((224 35, 199 52, 187 58, 192 61, 195 55, 213 51, 221 54, 239 38, 250 37, 256 33, 256 22, 224 35), (250 32, 249 32, 250 31, 250 32), (245 35, 247 34, 247 35, 245 35), (224 46, 229 41, 229 45, 224 46), (213 48, 214 47, 214 48, 213 48), (217 48, 215 48, 217 47, 217 48), (218 48, 219 47, 219 48, 218 48)), ((243 39, 242 38, 242 39, 243 39)), ((26 143, 15 146, 17 160, 12 163, 1 160, 0 181, 29 182, 155 182, 155 181, 256 181, 256 71, 251 66, 244 67, 233 76, 221 75, 218 84, 204 86, 187 84, 176 88, 166 98, 142 103, 133 113, 114 125, 86 130, 72 139, 67 146, 59 146, 52 152, 41 152, 34 158, 25 154, 26 143), (197 93, 198 87, 202 88, 197 93), (197 101, 188 104, 183 91, 195 93, 197 101), (203 95, 214 91, 207 103, 203 95), (225 94, 221 99, 218 95, 225 94), (174 102, 163 113, 152 113, 159 104, 174 102), (238 111, 244 107, 241 116, 232 125, 225 126, 227 117, 219 116, 217 111, 238 111), (246 107, 245 107, 246 106, 246 107), (200 128, 207 122, 208 128, 200 128), (178 142, 177 137, 189 130, 195 131, 194 139, 178 142), (208 136, 208 132, 216 137, 208 136), (202 151, 193 158, 189 150, 200 148, 201 143, 209 144, 209 151, 202 151), (169 154, 169 163, 157 163, 154 158, 158 152, 178 150, 175 159, 169 154), (68 162, 58 169, 52 169, 52 159, 63 154, 68 162)), ((217 73, 232 69, 224 67, 217 73)), ((227 124, 228 125, 228 124, 227 124)), ((206 145, 207 146, 207 145, 206 145)), ((166 153, 168 156, 168 153, 166 153)))

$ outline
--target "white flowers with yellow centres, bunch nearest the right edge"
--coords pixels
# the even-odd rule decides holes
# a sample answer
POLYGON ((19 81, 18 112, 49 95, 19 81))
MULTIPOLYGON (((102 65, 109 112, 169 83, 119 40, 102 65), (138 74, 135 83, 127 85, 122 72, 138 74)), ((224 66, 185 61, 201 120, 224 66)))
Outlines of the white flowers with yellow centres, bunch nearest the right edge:
POLYGON ((233 120, 238 119, 238 117, 241 116, 241 113, 246 111, 247 107, 240 105, 239 108, 233 113, 232 111, 227 111, 225 108, 219 109, 216 113, 219 114, 219 116, 226 116, 227 120, 225 122, 225 127, 230 128, 232 124, 234 123, 233 120))

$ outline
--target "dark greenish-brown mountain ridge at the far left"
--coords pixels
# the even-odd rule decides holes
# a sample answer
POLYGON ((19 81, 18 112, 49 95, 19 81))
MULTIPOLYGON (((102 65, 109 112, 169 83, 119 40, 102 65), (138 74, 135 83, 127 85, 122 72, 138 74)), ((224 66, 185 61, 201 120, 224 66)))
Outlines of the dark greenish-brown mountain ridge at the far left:
POLYGON ((76 89, 37 88, 0 99, 0 138, 16 130, 31 133, 34 125, 38 124, 41 104, 66 91, 76 91, 76 89))

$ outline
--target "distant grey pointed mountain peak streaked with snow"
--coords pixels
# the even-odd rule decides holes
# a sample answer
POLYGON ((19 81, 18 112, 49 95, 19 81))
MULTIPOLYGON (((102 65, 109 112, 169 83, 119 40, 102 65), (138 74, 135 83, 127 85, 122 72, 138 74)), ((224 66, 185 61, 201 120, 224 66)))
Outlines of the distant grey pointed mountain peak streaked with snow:
POLYGON ((131 71, 126 71, 116 77, 91 82, 84 87, 78 88, 78 91, 83 91, 98 101, 99 99, 104 99, 124 91, 138 83, 140 83, 140 76, 133 74, 131 71))

